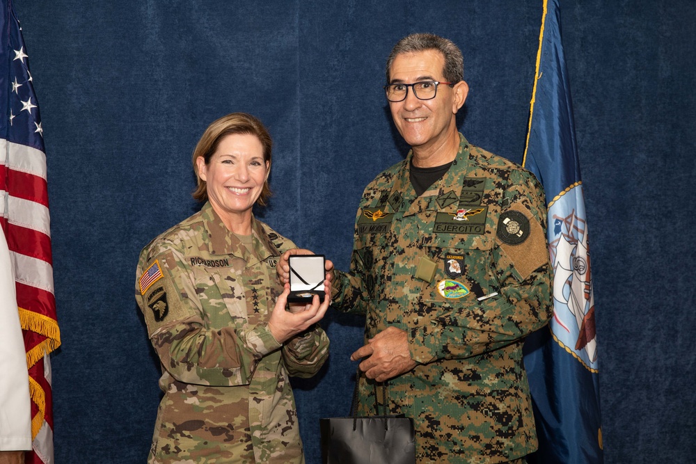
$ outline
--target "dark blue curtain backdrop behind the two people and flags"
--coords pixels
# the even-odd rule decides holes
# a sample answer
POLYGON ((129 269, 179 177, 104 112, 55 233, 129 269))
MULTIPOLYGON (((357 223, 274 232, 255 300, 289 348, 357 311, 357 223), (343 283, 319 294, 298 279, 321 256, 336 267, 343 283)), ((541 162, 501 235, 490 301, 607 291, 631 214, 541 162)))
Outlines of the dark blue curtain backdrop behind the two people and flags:
MULTIPOLYGON (((459 122, 521 162, 541 0, 15 0, 42 112, 58 321, 57 464, 143 463, 157 362, 133 298, 139 250, 196 211, 193 145, 232 111, 274 137, 261 218, 346 269, 365 184, 406 153, 383 64, 431 31, 464 51, 459 122)), ((560 1, 592 224, 606 463, 686 463, 696 445, 696 174, 689 0, 560 1)), ((294 383, 309 464, 345 415, 362 321, 324 323, 329 364, 294 383)))

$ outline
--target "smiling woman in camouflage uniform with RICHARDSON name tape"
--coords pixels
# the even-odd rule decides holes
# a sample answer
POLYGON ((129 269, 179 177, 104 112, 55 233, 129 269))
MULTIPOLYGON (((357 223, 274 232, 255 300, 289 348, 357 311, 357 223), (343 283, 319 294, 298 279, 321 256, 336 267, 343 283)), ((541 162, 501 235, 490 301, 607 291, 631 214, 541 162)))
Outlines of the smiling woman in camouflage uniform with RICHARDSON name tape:
POLYGON ((252 214, 270 167, 258 119, 216 120, 193 152, 205 205, 141 252, 136 300, 164 391, 148 463, 304 462, 288 376, 313 376, 329 354, 317 322, 330 283, 324 303, 286 311, 275 266, 294 243, 252 214))

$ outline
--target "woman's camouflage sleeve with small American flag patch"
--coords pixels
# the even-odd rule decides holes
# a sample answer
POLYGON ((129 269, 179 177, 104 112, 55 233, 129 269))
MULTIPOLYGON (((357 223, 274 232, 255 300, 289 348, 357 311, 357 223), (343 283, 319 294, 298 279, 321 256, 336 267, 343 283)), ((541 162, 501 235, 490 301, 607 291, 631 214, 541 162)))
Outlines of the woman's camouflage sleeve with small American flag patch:
POLYGON ((205 303, 182 256, 171 244, 155 244, 143 250, 136 271, 136 300, 162 366, 184 383, 248 384, 261 358, 280 344, 267 323, 207 329, 205 303))

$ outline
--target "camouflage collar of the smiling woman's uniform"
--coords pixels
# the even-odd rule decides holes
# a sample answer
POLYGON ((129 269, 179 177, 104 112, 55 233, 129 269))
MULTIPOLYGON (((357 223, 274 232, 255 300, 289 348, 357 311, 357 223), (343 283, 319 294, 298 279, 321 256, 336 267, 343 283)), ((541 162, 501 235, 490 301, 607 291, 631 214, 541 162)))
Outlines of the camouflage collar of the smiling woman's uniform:
POLYGON ((208 247, 211 255, 233 255, 244 259, 247 265, 263 261, 270 256, 280 256, 278 248, 269 239, 260 221, 251 215, 252 250, 248 250, 235 234, 230 232, 222 219, 206 202, 200 209, 203 225, 208 235, 208 247))

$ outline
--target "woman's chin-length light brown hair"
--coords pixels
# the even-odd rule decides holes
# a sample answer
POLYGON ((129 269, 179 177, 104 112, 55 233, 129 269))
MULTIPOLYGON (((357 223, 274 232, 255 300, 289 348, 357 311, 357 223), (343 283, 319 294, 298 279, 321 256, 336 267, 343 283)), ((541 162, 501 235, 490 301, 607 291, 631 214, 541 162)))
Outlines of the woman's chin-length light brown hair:
MULTIPOLYGON (((205 129, 203 136, 200 137, 200 140, 196 144, 196 148, 193 149, 191 162, 193 163, 193 172, 196 173, 198 186, 196 186, 196 190, 193 191, 192 195, 193 198, 199 202, 208 200, 208 192, 205 180, 201 179, 198 175, 196 159, 203 157, 207 166, 222 139, 232 134, 256 136, 263 147, 263 160, 268 163, 269 171, 271 170, 271 148, 273 147, 273 141, 271 141, 271 135, 268 133, 268 129, 264 127, 263 123, 258 120, 258 118, 248 113, 230 113, 223 116, 213 121, 208 128, 205 129)), ((257 202, 261 206, 266 206, 270 197, 271 189, 269 189, 268 186, 267 176, 257 202)))

